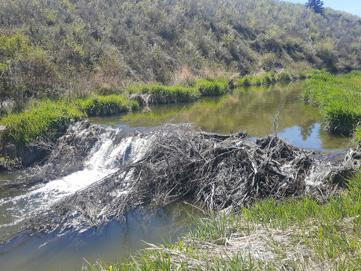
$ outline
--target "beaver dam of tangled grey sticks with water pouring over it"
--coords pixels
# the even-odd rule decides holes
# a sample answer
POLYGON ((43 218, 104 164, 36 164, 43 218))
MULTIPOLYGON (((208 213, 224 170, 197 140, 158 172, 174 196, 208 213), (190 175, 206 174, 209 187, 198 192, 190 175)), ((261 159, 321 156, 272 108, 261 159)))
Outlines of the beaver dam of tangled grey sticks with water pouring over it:
POLYGON ((331 187, 326 183, 340 183, 352 174, 355 157, 348 152, 341 163, 332 164, 326 155, 294 147, 277 135, 248 140, 244 132, 204 133, 190 124, 122 131, 83 121, 58 140, 42 166, 2 185, 8 191, 35 187, 8 199, 11 203, 37 200, 17 213, 16 207, 2 211, 21 222, 18 228, 2 225, 1 239, 84 231, 183 198, 222 210, 258 198, 323 195, 331 187))

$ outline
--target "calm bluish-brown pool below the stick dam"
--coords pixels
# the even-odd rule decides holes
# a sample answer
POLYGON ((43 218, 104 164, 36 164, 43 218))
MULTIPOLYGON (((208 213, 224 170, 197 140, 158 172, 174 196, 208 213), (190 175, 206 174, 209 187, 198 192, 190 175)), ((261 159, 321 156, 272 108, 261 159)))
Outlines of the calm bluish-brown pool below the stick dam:
POLYGON ((99 257, 116 262, 145 246, 164 243, 187 231, 190 205, 169 205, 155 214, 135 212, 121 222, 109 222, 101 229, 65 234, 23 234, 10 243, 0 243, 1 270, 81 270, 99 257))

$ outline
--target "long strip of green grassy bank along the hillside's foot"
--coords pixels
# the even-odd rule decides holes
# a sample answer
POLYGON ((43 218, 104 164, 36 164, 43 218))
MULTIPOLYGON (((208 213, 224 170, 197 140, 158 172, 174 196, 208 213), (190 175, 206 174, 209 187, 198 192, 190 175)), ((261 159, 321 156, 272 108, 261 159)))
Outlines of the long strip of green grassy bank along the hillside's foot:
MULTIPOLYGON (((305 74, 314 76, 319 73, 324 73, 324 71, 315 70, 305 74)), ((298 76, 265 73, 259 76, 245 76, 237 82, 233 78, 228 78, 228 80, 217 78, 193 80, 183 86, 139 85, 117 95, 93 94, 90 97, 73 100, 34 100, 20 112, 14 111, 13 114, 8 114, 1 119, 0 165, 3 168, 20 165, 27 167, 35 159, 44 155, 44 150, 37 155, 39 148, 29 147, 29 145, 39 141, 54 143, 54 140, 59 138, 70 124, 84 117, 129 112, 139 108, 140 105, 147 104, 192 102, 203 96, 224 95, 236 85, 259 85, 259 82, 276 83, 302 78, 301 73, 294 72, 294 74, 298 76), (267 80, 269 77, 272 80, 267 80), (28 159, 20 157, 30 154, 31 157, 28 159)))

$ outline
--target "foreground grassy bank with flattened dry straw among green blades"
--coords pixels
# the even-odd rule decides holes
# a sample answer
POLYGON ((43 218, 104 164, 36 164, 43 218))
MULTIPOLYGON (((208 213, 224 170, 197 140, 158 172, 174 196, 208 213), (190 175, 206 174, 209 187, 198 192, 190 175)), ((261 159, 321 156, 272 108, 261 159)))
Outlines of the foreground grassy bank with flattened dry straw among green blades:
POLYGON ((176 243, 84 270, 360 270, 361 172, 327 200, 261 200, 226 215, 192 217, 176 243))

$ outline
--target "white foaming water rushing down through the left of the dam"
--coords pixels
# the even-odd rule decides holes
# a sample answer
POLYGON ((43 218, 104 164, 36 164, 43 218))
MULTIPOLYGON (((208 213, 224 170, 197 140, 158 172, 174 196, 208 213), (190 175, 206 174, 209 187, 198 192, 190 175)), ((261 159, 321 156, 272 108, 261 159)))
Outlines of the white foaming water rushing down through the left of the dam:
MULTIPOLYGON (((0 206, 6 208, 6 216, 12 217, 10 224, 17 224, 39 211, 48 210, 57 201, 114 173, 126 159, 133 162, 141 159, 149 145, 149 137, 142 138, 138 135, 121 138, 120 134, 120 129, 112 128, 102 133, 85 161, 85 169, 34 186, 23 195, 2 199, 0 206)), ((126 186, 113 196, 117 197, 123 193, 128 193, 126 186)), ((8 224, 0 225, 0 229, 6 225, 8 224)))

